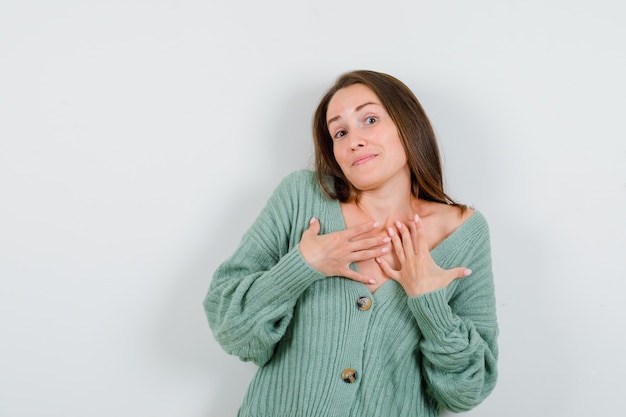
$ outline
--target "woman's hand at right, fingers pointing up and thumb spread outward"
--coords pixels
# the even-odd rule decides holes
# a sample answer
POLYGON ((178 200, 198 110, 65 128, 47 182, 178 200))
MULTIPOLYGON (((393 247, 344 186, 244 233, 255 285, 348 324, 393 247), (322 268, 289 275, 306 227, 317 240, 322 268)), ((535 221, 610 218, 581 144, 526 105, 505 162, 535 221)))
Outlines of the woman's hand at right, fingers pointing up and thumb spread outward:
POLYGON ((443 269, 435 263, 430 256, 424 224, 417 215, 407 225, 397 222, 388 233, 400 269, 393 269, 380 257, 376 262, 387 276, 402 285, 409 297, 447 287, 455 279, 472 273, 467 268, 443 269))

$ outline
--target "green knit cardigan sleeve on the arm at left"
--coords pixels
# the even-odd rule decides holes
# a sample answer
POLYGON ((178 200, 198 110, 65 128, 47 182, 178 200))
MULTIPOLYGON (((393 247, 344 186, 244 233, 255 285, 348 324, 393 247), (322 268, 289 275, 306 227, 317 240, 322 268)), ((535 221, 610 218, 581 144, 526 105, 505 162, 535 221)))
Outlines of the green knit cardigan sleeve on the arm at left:
POLYGON ((324 278, 291 242, 296 187, 289 178, 272 194, 235 253, 218 267, 203 302, 222 348, 259 366, 271 358, 298 297, 324 278))

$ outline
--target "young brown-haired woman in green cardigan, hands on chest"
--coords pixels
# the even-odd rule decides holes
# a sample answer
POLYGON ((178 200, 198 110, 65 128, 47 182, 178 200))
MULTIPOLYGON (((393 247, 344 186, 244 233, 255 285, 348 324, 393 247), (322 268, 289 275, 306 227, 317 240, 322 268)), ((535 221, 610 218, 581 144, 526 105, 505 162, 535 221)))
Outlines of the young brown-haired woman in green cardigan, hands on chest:
POLYGON ((497 377, 489 232, 444 192, 417 98, 346 73, 313 133, 315 172, 281 182, 204 299, 226 352, 260 366, 239 416, 475 407, 497 377))

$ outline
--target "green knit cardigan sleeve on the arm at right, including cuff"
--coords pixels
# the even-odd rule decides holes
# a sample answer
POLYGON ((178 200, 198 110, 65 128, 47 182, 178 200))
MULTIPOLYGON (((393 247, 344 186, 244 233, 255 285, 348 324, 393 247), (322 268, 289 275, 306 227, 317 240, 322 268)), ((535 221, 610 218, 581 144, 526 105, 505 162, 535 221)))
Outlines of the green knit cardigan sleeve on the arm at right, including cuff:
POLYGON ((472 274, 409 298, 423 336, 419 346, 427 392, 454 412, 482 402, 497 379, 495 290, 489 232, 482 223, 463 245, 468 256, 461 262, 472 274))

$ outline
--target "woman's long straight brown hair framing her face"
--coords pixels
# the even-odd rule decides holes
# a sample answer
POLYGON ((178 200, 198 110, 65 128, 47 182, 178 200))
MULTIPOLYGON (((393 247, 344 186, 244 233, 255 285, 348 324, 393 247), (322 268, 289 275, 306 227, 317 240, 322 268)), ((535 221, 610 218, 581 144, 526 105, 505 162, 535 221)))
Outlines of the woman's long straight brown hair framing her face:
POLYGON ((352 201, 358 195, 335 160, 326 124, 330 100, 337 91, 353 84, 370 88, 396 125, 411 171, 411 193, 423 200, 458 205, 444 192, 437 139, 422 105, 400 80, 375 71, 351 71, 339 76, 317 106, 313 116, 313 140, 315 172, 322 190, 341 202, 352 201))

